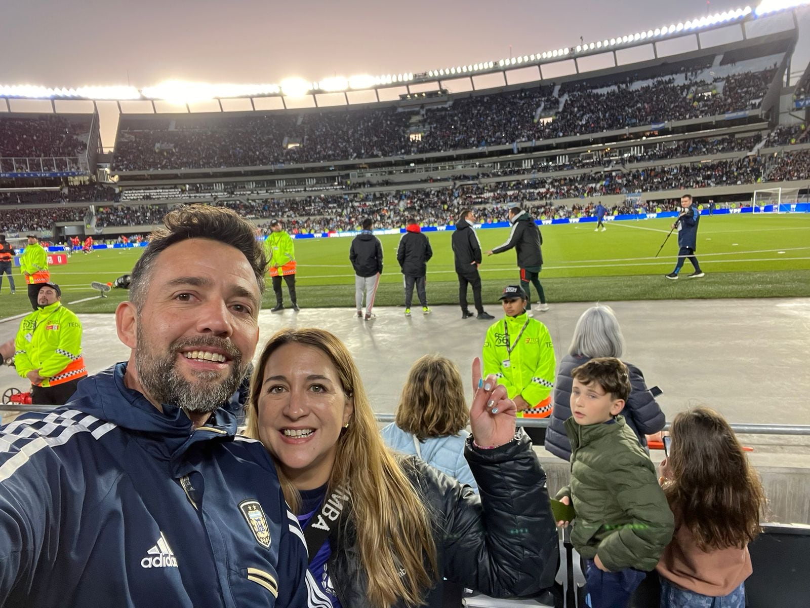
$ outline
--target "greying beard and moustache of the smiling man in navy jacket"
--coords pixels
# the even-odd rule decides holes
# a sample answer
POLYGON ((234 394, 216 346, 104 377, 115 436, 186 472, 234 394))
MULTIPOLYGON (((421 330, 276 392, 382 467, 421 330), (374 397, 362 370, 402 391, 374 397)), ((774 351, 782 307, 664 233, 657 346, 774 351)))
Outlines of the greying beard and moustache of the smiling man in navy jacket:
POLYGON ((175 340, 161 356, 145 347, 141 325, 138 327, 138 347, 135 349, 135 366, 143 389, 160 404, 174 405, 186 412, 211 413, 224 405, 237 391, 247 366, 242 365, 242 354, 228 340, 215 336, 197 336, 175 340), (177 353, 180 349, 213 346, 223 349, 231 359, 232 372, 227 378, 217 381, 215 371, 194 372, 196 380, 185 379, 177 370, 177 353))

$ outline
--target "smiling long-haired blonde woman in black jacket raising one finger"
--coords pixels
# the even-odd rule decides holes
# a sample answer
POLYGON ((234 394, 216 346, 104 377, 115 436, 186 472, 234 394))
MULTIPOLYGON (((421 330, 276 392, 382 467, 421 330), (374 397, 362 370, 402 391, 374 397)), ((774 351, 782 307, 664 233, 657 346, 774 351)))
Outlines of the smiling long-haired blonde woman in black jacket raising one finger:
POLYGON ((352 355, 333 334, 285 329, 268 342, 248 428, 275 456, 304 529, 314 603, 439 608, 443 578, 496 597, 552 584, 545 473, 515 432, 504 387, 481 379, 477 359, 472 378, 466 456, 484 499, 386 447, 352 355))

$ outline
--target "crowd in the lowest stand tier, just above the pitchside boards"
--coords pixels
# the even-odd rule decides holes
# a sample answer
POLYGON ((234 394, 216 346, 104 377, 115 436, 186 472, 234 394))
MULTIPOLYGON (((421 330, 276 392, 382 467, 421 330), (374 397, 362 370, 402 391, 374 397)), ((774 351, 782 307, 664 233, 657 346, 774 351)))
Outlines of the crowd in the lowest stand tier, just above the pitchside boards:
MULTIPOLYGON (((371 217, 380 228, 399 228, 408 217, 416 216, 424 225, 452 224, 458 210, 475 206, 482 222, 505 221, 509 208, 531 209, 540 219, 590 214, 591 199, 604 195, 633 195, 665 190, 694 190, 810 178, 810 151, 778 157, 765 179, 770 156, 744 156, 740 159, 662 165, 645 169, 608 168, 597 173, 579 173, 546 178, 542 175, 481 184, 478 182, 362 194, 308 194, 249 200, 212 200, 213 204, 235 209, 242 216, 262 224, 281 218, 293 232, 330 232, 355 229, 364 217, 371 217), (569 199, 569 203, 555 203, 569 199), (570 199, 579 199, 573 206, 570 199)), ((109 205, 96 207, 96 227, 154 225, 168 212, 168 205, 109 205)), ((612 212, 635 212, 636 208, 614 208, 612 212)), ((642 208, 642 212, 649 211, 642 208)), ((0 212, 0 229, 19 232, 50 229, 53 221, 80 221, 87 208, 22 209, 0 212)))

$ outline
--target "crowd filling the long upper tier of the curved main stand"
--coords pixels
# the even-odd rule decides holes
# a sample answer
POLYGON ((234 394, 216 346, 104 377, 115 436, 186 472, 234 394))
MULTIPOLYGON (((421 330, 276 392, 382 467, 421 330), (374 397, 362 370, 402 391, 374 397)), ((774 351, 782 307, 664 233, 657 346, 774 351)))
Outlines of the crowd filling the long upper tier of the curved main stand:
POLYGON ((352 160, 511 145, 698 118, 758 107, 776 68, 716 82, 662 76, 593 88, 553 88, 458 98, 413 111, 330 110, 257 117, 177 118, 168 128, 124 123, 115 168, 204 169, 352 160), (561 105, 561 108, 560 108, 561 105), (549 111, 551 110, 551 111, 549 111), (553 115, 555 118, 548 120, 553 115), (411 132, 421 139, 411 140, 411 132))

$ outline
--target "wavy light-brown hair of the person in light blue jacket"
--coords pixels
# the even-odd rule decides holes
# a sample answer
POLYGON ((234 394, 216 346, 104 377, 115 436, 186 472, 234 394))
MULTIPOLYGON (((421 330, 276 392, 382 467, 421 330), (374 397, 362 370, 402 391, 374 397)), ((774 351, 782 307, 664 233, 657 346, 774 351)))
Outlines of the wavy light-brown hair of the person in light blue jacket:
POLYGON ((397 426, 423 441, 458 435, 467 422, 470 413, 455 363, 441 355, 417 359, 399 397, 397 426))

